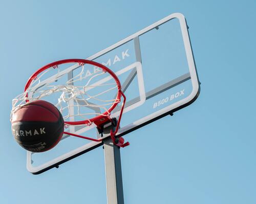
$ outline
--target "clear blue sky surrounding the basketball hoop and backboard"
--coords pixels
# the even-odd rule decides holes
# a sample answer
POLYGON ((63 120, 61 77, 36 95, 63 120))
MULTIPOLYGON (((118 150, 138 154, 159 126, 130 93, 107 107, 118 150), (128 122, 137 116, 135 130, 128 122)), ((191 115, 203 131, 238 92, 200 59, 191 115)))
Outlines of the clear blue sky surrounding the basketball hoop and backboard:
POLYGON ((0 1, 0 203, 106 203, 102 147, 39 175, 10 128, 40 66, 86 58, 175 12, 189 26, 201 93, 125 136, 125 203, 256 203, 255 1, 0 1))

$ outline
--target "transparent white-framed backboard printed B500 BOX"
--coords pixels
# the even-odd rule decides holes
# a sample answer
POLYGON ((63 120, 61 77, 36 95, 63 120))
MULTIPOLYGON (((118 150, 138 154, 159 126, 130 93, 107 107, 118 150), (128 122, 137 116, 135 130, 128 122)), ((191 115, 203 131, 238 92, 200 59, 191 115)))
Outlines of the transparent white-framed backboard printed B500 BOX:
MULTIPOLYGON (((172 114, 198 97, 200 86, 187 29, 185 17, 174 13, 87 58, 109 67, 122 84, 126 104, 118 136, 172 114)), ((63 72, 68 73, 68 81, 77 74, 77 66, 63 72)), ((95 83, 108 81, 103 77, 95 83)), ((111 117, 118 117, 119 110, 120 105, 111 117)), ((100 137, 94 125, 72 126, 68 131, 100 137)), ((49 151, 28 151, 27 169, 38 174, 101 145, 63 135, 49 151)))

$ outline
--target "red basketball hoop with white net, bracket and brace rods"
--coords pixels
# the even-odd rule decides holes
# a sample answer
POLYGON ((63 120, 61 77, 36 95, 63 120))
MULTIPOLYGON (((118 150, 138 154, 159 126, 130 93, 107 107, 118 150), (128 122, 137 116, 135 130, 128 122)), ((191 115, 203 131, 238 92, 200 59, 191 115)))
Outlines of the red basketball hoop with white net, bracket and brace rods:
MULTIPOLYGON (((121 97, 122 105, 120 110, 117 111, 119 118, 115 131, 111 130, 111 138, 115 145, 125 147, 129 143, 124 143, 122 138, 115 138, 115 135, 120 125, 126 97, 121 90, 120 81, 115 73, 105 65, 95 61, 65 59, 41 67, 27 81, 24 93, 13 99, 11 119, 15 111, 29 102, 51 99, 49 102, 59 109, 66 127, 95 124, 99 130, 102 130, 104 124, 114 123, 110 117, 111 112, 121 102, 121 97), (72 63, 72 66, 67 67, 70 63, 72 63), (80 70, 78 71, 78 69, 80 70), (73 76, 74 71, 77 72, 75 76, 73 76), (61 83, 65 76, 69 76, 68 81, 61 83), (60 82, 57 83, 58 81, 60 82), (112 83, 109 83, 109 81, 112 81, 112 83), (114 98, 106 98, 114 92, 114 98), (105 98, 100 98, 103 95, 105 98), (93 110, 93 112, 90 112, 90 110, 93 110)), ((71 132, 63 133, 95 142, 102 141, 101 138, 94 139, 71 132)))

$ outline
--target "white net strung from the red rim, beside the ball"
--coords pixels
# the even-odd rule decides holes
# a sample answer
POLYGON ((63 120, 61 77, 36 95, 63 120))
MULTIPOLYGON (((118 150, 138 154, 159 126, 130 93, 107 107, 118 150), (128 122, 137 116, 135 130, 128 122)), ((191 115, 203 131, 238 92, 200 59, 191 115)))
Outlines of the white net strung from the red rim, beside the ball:
MULTIPOLYGON (((13 99, 12 116, 17 109, 34 100, 54 104, 65 121, 84 121, 108 116, 117 100, 115 79, 91 64, 65 63, 50 67, 34 77, 25 93, 13 99)), ((89 124, 90 125, 90 124, 89 124)))

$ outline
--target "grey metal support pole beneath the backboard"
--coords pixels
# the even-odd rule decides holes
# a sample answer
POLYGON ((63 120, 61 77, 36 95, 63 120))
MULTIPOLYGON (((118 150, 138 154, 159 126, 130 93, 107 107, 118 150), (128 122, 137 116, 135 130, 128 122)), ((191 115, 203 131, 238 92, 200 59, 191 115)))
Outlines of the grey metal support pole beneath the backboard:
MULTIPOLYGON (((110 135, 113 126, 104 128, 103 135, 110 135)), ((103 140, 108 204, 124 204, 120 148, 111 138, 103 140)))

